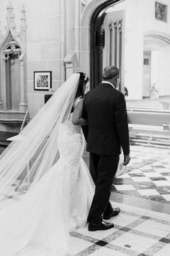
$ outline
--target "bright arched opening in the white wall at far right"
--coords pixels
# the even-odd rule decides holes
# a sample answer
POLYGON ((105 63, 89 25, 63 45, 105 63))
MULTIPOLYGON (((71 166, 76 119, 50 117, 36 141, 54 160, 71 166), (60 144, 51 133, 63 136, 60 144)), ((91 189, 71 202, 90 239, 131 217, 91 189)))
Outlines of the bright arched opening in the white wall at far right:
POLYGON ((170 93, 169 67, 170 35, 150 31, 143 38, 143 98, 159 98, 170 93), (148 65, 144 60, 148 59, 148 65), (148 70, 148 71, 147 71, 148 70), (162 79, 164 77, 164 79, 162 79))

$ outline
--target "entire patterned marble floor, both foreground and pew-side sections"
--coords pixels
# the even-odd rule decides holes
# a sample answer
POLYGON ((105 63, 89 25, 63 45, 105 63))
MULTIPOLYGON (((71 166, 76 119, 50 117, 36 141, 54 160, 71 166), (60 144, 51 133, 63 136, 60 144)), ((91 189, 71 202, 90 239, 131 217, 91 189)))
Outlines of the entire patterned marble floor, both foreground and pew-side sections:
MULTIPOLYGON (((170 203, 170 148, 131 146, 131 161, 115 179, 113 191, 133 197, 170 203)), ((147 201, 148 201, 147 200, 147 201)), ((115 202, 121 212, 114 229, 71 232, 75 256, 169 256, 170 216, 115 202)))

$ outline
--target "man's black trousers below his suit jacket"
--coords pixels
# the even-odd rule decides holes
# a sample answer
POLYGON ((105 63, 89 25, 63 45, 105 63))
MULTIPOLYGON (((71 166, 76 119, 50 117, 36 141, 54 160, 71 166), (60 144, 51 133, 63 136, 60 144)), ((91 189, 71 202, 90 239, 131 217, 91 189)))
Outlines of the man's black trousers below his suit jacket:
POLYGON ((112 191, 112 182, 115 177, 120 155, 98 155, 90 153, 91 176, 96 185, 94 198, 89 210, 87 222, 99 223, 102 214, 112 211, 109 196, 112 191))

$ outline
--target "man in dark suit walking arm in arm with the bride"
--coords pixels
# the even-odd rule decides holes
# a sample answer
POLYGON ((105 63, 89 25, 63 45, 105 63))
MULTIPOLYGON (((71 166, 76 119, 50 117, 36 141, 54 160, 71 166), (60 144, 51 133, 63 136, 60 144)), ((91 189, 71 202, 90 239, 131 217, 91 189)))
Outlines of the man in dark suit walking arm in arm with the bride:
POLYGON ((125 97, 116 90, 120 82, 119 69, 105 67, 103 81, 84 98, 83 116, 88 119, 86 150, 89 151, 91 176, 96 185, 87 222, 89 231, 111 229, 114 224, 103 221, 117 216, 120 208, 112 208, 109 196, 120 158, 124 153, 124 165, 130 162, 128 118, 125 97))

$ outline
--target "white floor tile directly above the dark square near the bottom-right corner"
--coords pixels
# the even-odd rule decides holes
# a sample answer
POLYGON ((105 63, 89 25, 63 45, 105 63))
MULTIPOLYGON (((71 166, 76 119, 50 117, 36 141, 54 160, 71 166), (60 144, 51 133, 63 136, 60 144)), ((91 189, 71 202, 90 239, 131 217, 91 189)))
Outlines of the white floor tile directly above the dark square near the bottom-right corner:
POLYGON ((170 233, 170 226, 163 223, 158 223, 156 221, 145 221, 144 223, 136 226, 134 228, 138 231, 143 231, 144 233, 153 234, 160 237, 166 237, 170 233))

